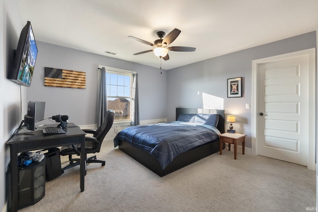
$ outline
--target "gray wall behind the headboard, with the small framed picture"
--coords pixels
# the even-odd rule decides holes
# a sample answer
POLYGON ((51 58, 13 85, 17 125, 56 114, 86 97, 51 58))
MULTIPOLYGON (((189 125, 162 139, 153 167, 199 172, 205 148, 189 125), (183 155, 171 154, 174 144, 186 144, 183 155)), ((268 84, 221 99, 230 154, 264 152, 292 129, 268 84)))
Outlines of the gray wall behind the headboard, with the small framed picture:
POLYGON ((168 121, 174 119, 175 107, 206 107, 202 93, 217 96, 224 101, 225 113, 236 115, 234 129, 247 135, 246 147, 251 148, 252 110, 245 109, 245 103, 252 103, 252 60, 310 48, 316 48, 316 31, 169 70, 168 121), (239 76, 243 95, 228 98, 227 79, 239 76))

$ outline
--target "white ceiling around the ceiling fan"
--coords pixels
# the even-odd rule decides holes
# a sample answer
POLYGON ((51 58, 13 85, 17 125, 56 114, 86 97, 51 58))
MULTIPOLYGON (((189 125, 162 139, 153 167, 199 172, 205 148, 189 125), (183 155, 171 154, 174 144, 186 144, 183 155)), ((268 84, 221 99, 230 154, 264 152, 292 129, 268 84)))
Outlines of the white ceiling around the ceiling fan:
MULTIPOLYGON (((31 21, 35 39, 159 68, 152 46, 156 32, 174 28, 169 70, 246 48, 315 31, 318 0, 17 0, 23 24, 31 21), (117 53, 110 55, 105 51, 117 53)), ((107 64, 100 64, 105 65, 107 64)))

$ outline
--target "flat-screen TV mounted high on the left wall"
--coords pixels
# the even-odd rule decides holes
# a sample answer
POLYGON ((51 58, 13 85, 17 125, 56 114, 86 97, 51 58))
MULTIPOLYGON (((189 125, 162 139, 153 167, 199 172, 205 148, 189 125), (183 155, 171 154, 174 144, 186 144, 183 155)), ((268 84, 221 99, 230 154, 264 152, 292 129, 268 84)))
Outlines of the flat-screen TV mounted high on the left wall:
POLYGON ((31 22, 23 27, 15 51, 14 64, 8 73, 8 79, 17 84, 29 87, 35 67, 38 48, 35 43, 31 22))

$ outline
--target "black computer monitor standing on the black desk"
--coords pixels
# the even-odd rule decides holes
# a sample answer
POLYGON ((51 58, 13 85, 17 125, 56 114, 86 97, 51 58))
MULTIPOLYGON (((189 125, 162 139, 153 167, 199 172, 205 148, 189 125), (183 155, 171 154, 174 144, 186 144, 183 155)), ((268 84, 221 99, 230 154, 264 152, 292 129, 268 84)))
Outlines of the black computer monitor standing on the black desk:
POLYGON ((24 123, 28 130, 35 130, 35 123, 44 120, 45 102, 28 102, 24 123))

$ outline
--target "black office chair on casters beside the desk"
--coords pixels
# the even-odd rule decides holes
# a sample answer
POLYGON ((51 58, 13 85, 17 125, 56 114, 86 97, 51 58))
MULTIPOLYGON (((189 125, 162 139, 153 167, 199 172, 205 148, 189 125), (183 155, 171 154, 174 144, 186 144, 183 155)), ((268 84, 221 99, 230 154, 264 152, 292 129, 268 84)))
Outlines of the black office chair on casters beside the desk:
MULTIPOLYGON (((114 122, 115 113, 112 110, 108 110, 105 114, 105 120, 102 125, 100 125, 96 130, 83 130, 85 133, 93 134, 93 137, 85 136, 85 158, 87 163, 101 163, 102 166, 105 165, 104 160, 97 160, 96 155, 87 158, 88 153, 96 153, 100 151, 101 144, 110 130, 111 126, 114 122)), ((72 168, 74 166, 79 165, 79 158, 72 158, 72 155, 80 155, 80 145, 72 145, 72 146, 62 146, 60 155, 66 156, 69 155, 70 165, 64 167, 62 169, 62 173, 66 169, 72 168)), ((86 174, 86 168, 85 168, 86 174)))

